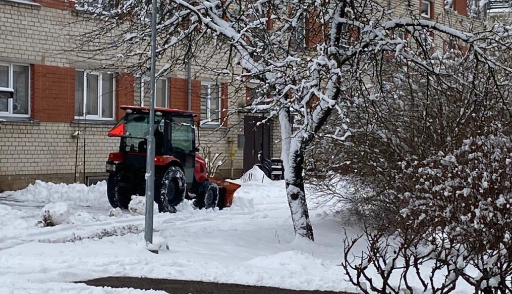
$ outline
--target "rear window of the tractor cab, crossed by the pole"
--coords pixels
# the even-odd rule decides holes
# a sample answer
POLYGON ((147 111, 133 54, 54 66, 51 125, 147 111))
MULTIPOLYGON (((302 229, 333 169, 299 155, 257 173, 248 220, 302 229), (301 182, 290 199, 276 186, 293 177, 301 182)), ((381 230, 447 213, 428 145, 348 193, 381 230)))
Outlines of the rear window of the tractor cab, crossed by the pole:
MULTIPOLYGON (((124 124, 125 133, 122 138, 125 151, 146 153, 147 135, 150 132, 150 115, 149 114, 126 114, 124 119, 118 124, 124 124)), ((165 121, 163 117, 155 117, 155 153, 162 152, 162 142, 158 142, 159 134, 163 136, 165 121), (159 144, 161 143, 161 144, 159 144)))

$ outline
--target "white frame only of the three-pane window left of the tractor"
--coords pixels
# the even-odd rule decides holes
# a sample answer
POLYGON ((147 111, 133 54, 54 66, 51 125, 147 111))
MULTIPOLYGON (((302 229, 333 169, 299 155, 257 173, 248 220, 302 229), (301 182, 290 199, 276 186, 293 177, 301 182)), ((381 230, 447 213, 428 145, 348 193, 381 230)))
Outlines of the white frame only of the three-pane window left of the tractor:
MULTIPOLYGON (((88 119, 88 120, 97 120, 97 121, 114 121, 116 119, 116 74, 114 72, 101 72, 101 71, 92 71, 92 70, 83 70, 77 69, 76 71, 83 72, 83 113, 82 115, 75 115, 75 119, 88 119), (101 75, 112 74, 112 116, 113 117, 102 117, 101 116, 101 107, 103 105, 103 79, 101 79, 101 75), (87 75, 95 74, 98 75, 98 115, 87 114, 87 75)), ((76 99, 76 97, 75 97, 76 99)))

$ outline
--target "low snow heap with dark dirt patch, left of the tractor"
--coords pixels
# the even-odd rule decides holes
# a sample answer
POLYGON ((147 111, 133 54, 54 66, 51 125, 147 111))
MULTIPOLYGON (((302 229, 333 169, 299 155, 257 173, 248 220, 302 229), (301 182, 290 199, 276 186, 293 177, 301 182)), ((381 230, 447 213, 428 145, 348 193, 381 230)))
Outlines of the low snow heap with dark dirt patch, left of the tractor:
POLYGON ((53 227, 61 224, 89 224, 105 220, 105 217, 94 216, 87 211, 72 213, 64 202, 48 203, 41 210, 41 220, 38 222, 43 227, 53 227))

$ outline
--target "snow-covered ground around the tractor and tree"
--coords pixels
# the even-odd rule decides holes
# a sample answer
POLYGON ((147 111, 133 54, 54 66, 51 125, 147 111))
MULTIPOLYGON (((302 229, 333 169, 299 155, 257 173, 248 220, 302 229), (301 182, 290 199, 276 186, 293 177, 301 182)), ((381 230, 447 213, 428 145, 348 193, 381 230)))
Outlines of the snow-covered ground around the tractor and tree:
POLYGON ((295 240, 284 182, 262 177, 237 180, 242 187, 230 208, 197 210, 187 201, 177 213, 155 215, 155 242, 169 247, 160 254, 144 249, 142 215, 123 210, 109 217, 105 183, 37 182, 0 193, 0 292, 158 292, 66 283, 106 276, 357 292, 337 264, 344 229, 348 236, 359 231, 315 206, 315 242, 295 240), (45 209, 65 214, 61 224, 37 225, 45 209))

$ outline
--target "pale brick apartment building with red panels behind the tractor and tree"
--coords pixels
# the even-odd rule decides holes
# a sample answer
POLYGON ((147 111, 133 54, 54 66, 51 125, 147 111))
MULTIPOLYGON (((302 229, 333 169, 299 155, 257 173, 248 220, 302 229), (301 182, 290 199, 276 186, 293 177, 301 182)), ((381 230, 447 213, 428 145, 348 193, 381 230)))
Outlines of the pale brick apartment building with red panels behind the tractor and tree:
MULTIPOLYGON (((417 7, 388 0, 387 5, 398 15, 418 9, 424 18, 443 22, 445 16, 445 3, 439 0, 421 0, 417 7)), ((468 15, 465 0, 454 0, 452 8, 459 19, 468 15)), ((66 51, 66 35, 92 29, 90 23, 68 25, 79 17, 68 0, 0 0, 0 191, 35 180, 104 179, 105 160, 118 148, 118 140, 106 133, 123 116, 119 106, 147 106, 147 79, 93 70, 98 64, 66 51)), ((306 17, 303 26, 308 31, 319 23, 306 17)), ((304 35, 306 47, 319 40, 318 35, 304 35)), ((220 61, 209 56, 204 62, 214 68, 220 61)), ((183 71, 158 80, 156 105, 198 113, 201 153, 225 156, 220 177, 239 177, 258 161, 260 151, 266 158, 280 157, 279 124, 254 124, 265 113, 240 113, 225 120, 226 109, 250 100, 250 85, 246 95, 237 97, 214 73, 195 67, 192 71, 190 102, 183 71)))

